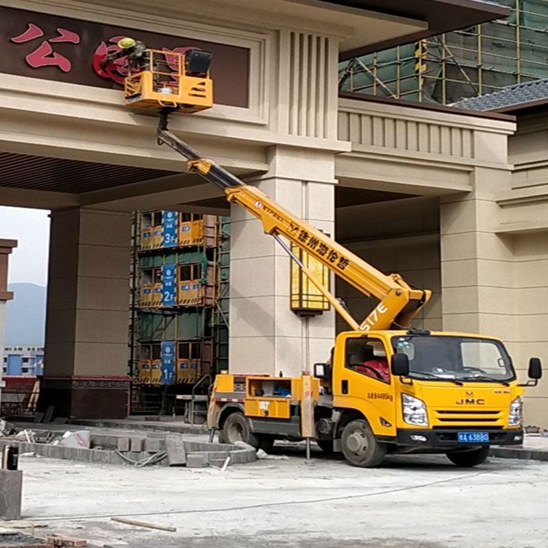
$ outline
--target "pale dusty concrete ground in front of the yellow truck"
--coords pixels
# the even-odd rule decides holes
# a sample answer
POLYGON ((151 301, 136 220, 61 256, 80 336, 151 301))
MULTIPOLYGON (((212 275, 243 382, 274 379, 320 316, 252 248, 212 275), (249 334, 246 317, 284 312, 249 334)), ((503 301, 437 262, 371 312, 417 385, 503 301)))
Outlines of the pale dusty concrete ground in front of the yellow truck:
POLYGON ((23 457, 23 517, 49 525, 37 534, 57 530, 132 548, 546 546, 547 463, 492 458, 458 469, 443 456, 397 456, 364 470, 321 453, 307 464, 292 447, 276 452, 289 459, 224 473, 23 457))

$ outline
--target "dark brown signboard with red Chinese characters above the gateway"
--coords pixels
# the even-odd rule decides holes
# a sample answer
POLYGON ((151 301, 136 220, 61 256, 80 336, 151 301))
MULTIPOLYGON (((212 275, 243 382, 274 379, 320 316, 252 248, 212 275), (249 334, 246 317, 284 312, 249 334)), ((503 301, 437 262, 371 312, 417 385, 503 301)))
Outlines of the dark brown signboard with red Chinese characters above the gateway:
MULTIPOLYGON (((103 25, 93 21, 0 6, 0 73, 69 84, 119 89, 127 59, 101 69, 104 55, 119 51, 120 38, 131 36, 152 49, 181 53, 189 48, 212 51, 214 101, 249 106, 249 49, 195 38, 169 36, 103 25)), ((169 55, 167 56, 169 64, 169 55)), ((173 58, 173 65, 175 65, 173 58)), ((175 66, 171 66, 173 71, 175 66)))

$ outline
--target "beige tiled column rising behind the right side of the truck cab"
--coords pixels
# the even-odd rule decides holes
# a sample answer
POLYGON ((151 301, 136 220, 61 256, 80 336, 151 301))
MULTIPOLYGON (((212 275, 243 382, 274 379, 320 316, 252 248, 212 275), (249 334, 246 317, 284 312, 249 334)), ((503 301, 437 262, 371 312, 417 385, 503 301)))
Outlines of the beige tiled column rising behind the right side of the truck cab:
POLYGON ((440 204, 443 329, 516 340, 512 240, 495 233, 510 173, 476 168, 473 192, 440 204))

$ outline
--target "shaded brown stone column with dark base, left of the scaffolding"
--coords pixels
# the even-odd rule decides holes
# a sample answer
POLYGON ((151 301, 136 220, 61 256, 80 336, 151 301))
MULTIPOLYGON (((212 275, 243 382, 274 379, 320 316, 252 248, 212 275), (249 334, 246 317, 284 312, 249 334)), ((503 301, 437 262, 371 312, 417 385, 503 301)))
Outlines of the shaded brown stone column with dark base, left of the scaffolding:
POLYGON ((131 216, 51 214, 45 378, 40 409, 55 416, 127 416, 131 216))

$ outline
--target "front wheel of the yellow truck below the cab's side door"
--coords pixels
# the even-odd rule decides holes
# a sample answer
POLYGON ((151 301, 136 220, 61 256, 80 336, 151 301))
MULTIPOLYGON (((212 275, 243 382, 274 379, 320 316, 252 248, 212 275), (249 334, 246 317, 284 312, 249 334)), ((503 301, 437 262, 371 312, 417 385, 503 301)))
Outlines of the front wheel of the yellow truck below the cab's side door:
POLYGON ((386 444, 379 443, 366 421, 350 421, 340 436, 345 459, 352 466, 373 468, 379 466, 386 455, 386 444))

